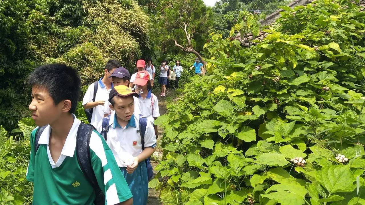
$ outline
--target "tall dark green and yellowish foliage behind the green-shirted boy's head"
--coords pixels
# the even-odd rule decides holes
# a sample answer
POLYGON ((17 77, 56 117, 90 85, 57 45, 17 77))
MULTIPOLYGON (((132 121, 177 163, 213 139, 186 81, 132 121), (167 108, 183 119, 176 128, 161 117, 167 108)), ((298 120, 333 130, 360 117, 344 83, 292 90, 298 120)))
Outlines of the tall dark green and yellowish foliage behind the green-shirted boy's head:
POLYGON ((86 85, 110 58, 132 68, 151 53, 150 18, 134 0, 6 0, 0 22, 0 124, 7 129, 28 114, 25 78, 39 64, 65 62, 86 85))

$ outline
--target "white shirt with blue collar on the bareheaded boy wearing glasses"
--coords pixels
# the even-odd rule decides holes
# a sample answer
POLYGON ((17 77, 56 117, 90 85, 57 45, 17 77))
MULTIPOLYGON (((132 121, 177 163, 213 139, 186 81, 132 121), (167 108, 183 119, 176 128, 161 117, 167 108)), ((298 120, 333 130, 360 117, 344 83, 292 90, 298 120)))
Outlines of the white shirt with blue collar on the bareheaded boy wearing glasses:
MULTIPOLYGON (((107 87, 105 87, 104 83, 101 82, 102 79, 103 78, 100 78, 99 83, 97 85, 98 88, 95 95, 95 101, 108 99, 111 88, 113 87, 112 84, 111 88, 107 90, 107 87)), ((85 96, 82 99, 82 105, 86 105, 88 102, 93 102, 92 101, 93 95, 94 95, 94 84, 92 83, 91 85, 89 85, 88 90, 86 91, 85 96)), ((97 126, 97 124, 99 123, 99 121, 101 121, 101 119, 103 119, 103 117, 104 117, 103 106, 98 105, 94 107, 90 124, 93 125, 94 127, 97 126)))

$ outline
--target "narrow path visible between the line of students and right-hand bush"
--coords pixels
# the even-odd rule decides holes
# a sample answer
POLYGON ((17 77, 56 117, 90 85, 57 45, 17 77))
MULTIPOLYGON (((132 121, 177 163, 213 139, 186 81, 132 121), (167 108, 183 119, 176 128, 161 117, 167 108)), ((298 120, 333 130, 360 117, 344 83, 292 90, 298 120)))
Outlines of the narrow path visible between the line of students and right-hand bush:
MULTIPOLYGON (((175 94, 173 90, 170 90, 169 94, 166 94, 165 98, 160 97, 158 94, 160 92, 154 91, 154 94, 157 96, 158 99, 158 108, 160 110, 160 115, 163 115, 166 113, 166 104, 169 100, 172 100, 174 98, 175 94)), ((158 138, 157 138, 157 150, 155 153, 153 153, 151 157, 151 165, 153 169, 158 164, 158 161, 162 159, 162 150, 161 150, 161 141, 162 135, 164 133, 164 129, 162 127, 158 127, 158 138)), ((155 170, 153 170, 155 172, 155 170)), ((154 189, 149 189, 148 192, 148 201, 147 205, 162 205, 160 200, 158 200, 158 193, 154 189)))

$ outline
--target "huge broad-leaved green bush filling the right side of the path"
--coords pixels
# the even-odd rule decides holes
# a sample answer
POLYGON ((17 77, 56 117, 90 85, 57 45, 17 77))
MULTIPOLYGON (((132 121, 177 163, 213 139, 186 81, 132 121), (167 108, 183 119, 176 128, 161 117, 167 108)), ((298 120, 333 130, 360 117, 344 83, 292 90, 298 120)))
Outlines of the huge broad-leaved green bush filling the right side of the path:
POLYGON ((257 46, 212 34, 210 75, 155 121, 164 159, 150 186, 164 204, 365 204, 365 12, 283 8, 257 46))

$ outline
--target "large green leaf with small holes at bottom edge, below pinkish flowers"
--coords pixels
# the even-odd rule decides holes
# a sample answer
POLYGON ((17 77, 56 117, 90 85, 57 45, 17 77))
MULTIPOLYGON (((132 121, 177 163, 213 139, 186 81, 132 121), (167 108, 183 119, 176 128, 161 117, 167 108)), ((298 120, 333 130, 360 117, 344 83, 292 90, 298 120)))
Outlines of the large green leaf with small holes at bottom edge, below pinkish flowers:
POLYGON ((297 184, 275 184, 261 194, 262 197, 277 200, 281 205, 302 205, 307 194, 305 186, 297 184))

